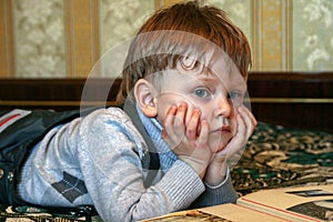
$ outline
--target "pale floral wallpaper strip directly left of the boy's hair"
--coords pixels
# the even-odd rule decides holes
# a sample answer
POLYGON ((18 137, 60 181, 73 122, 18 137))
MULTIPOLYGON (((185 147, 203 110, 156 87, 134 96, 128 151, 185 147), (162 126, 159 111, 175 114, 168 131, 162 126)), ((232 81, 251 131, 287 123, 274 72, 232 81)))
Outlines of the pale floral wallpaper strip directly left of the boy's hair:
POLYGON ((99 9, 101 69, 90 77, 117 78, 131 38, 155 10, 154 0, 100 0, 99 9))

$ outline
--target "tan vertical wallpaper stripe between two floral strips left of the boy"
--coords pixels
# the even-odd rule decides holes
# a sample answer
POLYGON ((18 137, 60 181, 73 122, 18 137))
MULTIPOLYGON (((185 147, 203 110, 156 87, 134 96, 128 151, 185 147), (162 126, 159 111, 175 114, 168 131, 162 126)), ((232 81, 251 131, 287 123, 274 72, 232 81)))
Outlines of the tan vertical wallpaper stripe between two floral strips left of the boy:
POLYGON ((64 1, 68 77, 88 77, 100 57, 98 1, 64 1))

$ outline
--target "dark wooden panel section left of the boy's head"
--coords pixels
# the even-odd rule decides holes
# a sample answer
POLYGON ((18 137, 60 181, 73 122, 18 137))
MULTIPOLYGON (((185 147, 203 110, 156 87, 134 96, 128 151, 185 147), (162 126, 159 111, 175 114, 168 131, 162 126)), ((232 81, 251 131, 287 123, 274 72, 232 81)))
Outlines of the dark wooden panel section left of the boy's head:
POLYGON ((0 100, 80 101, 114 100, 120 80, 112 79, 0 79, 0 100))

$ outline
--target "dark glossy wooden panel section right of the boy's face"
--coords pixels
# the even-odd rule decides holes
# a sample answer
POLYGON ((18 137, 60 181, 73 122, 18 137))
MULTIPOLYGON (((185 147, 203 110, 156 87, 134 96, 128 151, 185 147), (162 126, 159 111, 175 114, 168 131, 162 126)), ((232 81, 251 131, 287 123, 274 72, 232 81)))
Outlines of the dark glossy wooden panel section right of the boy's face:
POLYGON ((248 83, 258 120, 333 132, 333 73, 260 72, 248 83))

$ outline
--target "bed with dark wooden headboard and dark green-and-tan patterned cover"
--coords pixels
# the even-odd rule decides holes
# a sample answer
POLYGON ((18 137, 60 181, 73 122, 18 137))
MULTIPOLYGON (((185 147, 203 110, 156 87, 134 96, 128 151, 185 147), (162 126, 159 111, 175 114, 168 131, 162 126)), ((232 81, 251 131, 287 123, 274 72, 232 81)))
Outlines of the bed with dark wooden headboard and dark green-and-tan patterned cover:
MULTIPOLYGON (((93 80, 90 101, 108 83, 93 80)), ((83 79, 4 79, 0 109, 80 105, 83 79), (46 93, 47 92, 47 93, 46 93)), ((110 82, 110 81, 109 81, 110 82)), ((113 80, 112 80, 113 82, 113 80)), ((114 81, 114 88, 120 80, 114 81)), ((112 104, 115 89, 108 95, 112 104)), ((251 107, 259 124, 231 171, 240 195, 262 189, 333 183, 333 73, 256 73, 249 79, 251 107)), ((98 216, 50 214, 31 206, 0 206, 0 221, 99 221, 98 216)))

